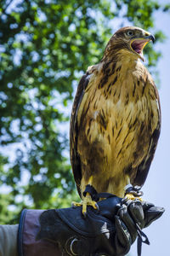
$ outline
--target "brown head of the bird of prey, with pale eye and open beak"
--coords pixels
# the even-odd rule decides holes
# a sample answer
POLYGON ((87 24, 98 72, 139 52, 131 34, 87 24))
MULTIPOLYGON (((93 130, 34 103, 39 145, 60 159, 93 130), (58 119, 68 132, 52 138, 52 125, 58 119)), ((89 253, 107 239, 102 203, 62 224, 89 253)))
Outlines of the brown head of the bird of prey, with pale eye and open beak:
POLYGON ((155 41, 155 37, 150 32, 136 26, 122 27, 111 37, 105 48, 105 54, 109 55, 111 52, 121 54, 126 51, 127 56, 144 61, 143 49, 150 41, 155 41))

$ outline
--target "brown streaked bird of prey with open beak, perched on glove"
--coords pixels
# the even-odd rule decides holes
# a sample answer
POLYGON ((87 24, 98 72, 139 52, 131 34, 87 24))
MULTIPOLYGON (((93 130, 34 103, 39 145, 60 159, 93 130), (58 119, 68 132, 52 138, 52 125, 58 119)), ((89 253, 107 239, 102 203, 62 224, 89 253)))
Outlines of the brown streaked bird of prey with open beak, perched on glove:
POLYGON ((88 184, 123 197, 128 183, 143 186, 148 175, 161 128, 156 85, 142 63, 150 40, 150 32, 122 27, 78 84, 70 147, 82 213, 96 207, 89 193, 83 195, 88 184))

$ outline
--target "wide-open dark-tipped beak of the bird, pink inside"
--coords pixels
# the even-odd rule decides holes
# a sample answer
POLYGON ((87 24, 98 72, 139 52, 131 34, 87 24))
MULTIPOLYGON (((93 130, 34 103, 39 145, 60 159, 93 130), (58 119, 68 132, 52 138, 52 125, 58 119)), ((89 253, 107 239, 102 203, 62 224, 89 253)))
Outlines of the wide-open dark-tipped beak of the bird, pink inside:
POLYGON ((156 38, 153 35, 147 35, 144 38, 135 38, 131 41, 131 49, 133 49, 134 52, 136 52, 140 59, 144 61, 144 55, 143 55, 143 49, 146 44, 148 44, 150 41, 153 43, 155 42, 156 38))

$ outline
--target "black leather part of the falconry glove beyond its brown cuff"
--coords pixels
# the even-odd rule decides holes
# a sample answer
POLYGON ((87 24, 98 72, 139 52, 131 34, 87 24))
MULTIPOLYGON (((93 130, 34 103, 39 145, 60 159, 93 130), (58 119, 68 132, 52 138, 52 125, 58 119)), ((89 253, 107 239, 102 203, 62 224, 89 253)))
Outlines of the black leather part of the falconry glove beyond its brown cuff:
POLYGON ((42 212, 37 240, 58 243, 62 255, 125 255, 137 236, 143 239, 141 229, 164 212, 150 203, 116 196, 98 205, 99 212, 88 207, 86 218, 82 217, 82 207, 42 212))

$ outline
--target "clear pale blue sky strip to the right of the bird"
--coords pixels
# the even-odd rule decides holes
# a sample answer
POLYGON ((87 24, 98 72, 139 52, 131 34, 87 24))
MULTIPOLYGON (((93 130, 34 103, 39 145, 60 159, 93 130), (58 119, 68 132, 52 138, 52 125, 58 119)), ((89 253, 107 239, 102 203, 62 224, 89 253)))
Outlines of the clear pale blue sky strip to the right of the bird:
MULTIPOLYGON (((167 3, 167 1, 161 1, 167 3)), ((164 207, 165 212, 144 230, 149 237, 150 246, 143 244, 142 255, 170 255, 170 203, 169 203, 169 159, 170 159, 170 14, 156 13, 156 29, 167 35, 167 40, 159 44, 162 58, 158 63, 161 79, 159 95, 161 100, 161 136, 156 148, 155 158, 151 164, 150 172, 142 190, 144 200, 154 203, 157 207, 164 207)), ((137 255, 136 242, 130 251, 130 256, 137 255)))

